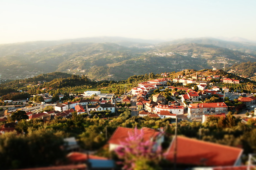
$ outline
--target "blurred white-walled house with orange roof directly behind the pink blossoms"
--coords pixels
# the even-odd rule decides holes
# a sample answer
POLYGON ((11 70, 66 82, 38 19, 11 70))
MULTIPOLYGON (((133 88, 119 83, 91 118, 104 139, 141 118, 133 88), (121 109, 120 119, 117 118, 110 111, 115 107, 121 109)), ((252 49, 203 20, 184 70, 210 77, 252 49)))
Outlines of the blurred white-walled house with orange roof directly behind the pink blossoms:
MULTIPOLYGON (((142 129, 144 133, 143 140, 156 140, 157 144, 161 144, 163 142, 163 136, 159 131, 150 128, 142 129)), ((129 137, 129 133, 133 133, 134 131, 135 129, 132 128, 117 127, 108 141, 109 150, 111 151, 121 146, 122 142, 126 142, 126 139, 129 137)), ((139 134, 141 133, 140 130, 137 129, 137 131, 139 134)))

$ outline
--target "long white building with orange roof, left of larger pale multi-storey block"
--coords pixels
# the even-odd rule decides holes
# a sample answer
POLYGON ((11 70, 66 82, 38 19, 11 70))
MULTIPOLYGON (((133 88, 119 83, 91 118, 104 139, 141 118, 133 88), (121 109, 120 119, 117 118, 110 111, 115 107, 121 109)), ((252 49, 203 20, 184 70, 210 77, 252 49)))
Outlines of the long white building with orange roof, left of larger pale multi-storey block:
POLYGON ((155 110, 154 112, 160 112, 160 111, 168 111, 171 112, 172 114, 177 114, 177 115, 181 115, 184 113, 184 106, 175 106, 175 105, 157 105, 155 106, 155 110))

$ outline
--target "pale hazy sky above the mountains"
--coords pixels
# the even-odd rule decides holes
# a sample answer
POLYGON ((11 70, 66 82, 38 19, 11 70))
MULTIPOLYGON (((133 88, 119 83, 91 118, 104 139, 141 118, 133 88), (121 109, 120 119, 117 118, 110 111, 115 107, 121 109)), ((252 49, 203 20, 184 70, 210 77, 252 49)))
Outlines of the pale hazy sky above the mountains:
POLYGON ((0 43, 120 36, 256 41, 255 0, 1 0, 0 43))

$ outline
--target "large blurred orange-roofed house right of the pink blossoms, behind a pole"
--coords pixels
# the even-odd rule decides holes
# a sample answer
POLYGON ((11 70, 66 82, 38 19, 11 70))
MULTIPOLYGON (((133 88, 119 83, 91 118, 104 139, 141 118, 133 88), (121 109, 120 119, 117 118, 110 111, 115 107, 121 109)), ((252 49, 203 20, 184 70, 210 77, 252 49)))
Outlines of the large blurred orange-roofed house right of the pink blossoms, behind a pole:
MULTIPOLYGON (((167 152, 166 160, 174 162, 175 137, 167 152)), ((243 150, 226 145, 177 136, 177 164, 194 166, 238 166, 243 150)))

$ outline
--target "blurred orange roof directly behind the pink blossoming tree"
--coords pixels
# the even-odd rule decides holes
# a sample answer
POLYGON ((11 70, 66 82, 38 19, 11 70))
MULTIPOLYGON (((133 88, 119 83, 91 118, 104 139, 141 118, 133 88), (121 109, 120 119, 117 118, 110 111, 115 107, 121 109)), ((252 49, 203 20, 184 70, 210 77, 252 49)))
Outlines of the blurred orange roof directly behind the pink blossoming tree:
MULTIPOLYGON (((110 137, 108 143, 109 144, 117 144, 120 145, 120 142, 126 142, 126 138, 129 137, 129 133, 133 133, 135 129, 132 128, 126 128, 126 127, 117 127, 113 135, 110 137)), ((160 132, 155 132, 151 130, 145 130, 144 131, 144 140, 150 140, 152 137, 156 137, 160 134, 160 132)), ((138 134, 140 134, 141 131, 138 130, 138 134)))

